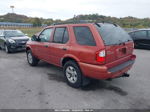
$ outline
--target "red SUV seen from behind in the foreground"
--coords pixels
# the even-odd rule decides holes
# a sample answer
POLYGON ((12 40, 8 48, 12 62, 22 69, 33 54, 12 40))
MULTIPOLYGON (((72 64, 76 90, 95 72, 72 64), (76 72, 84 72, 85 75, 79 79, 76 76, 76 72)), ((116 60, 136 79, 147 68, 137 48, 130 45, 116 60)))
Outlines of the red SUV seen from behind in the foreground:
POLYGON ((46 27, 27 42, 27 61, 39 60, 62 67, 67 83, 75 88, 90 78, 113 79, 129 76, 135 62, 134 43, 118 25, 77 23, 46 27))

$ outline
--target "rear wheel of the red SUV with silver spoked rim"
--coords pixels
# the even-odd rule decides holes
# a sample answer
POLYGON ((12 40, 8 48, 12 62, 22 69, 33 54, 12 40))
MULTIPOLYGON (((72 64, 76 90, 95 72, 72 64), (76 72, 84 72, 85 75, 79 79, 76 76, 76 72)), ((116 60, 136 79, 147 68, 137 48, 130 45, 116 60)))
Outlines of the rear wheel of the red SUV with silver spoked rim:
POLYGON ((82 86, 82 73, 75 61, 68 61, 63 67, 63 72, 67 84, 74 88, 82 86))

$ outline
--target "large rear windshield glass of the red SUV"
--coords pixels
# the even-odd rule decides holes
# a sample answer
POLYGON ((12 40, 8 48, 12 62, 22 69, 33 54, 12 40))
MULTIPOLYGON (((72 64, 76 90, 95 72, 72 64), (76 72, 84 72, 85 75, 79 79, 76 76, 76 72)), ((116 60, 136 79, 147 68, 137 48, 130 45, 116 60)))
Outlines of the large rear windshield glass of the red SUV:
POLYGON ((132 41, 131 37, 120 26, 109 23, 95 25, 105 45, 118 45, 132 41))

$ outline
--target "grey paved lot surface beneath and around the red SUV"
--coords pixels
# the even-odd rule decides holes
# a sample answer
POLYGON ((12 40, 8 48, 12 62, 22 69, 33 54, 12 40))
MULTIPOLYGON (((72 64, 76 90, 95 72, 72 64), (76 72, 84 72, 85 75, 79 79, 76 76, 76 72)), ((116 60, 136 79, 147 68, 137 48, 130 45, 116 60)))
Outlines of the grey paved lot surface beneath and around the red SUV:
POLYGON ((150 109, 150 51, 135 54, 131 77, 74 89, 60 68, 30 67, 24 52, 0 51, 0 109, 150 109))

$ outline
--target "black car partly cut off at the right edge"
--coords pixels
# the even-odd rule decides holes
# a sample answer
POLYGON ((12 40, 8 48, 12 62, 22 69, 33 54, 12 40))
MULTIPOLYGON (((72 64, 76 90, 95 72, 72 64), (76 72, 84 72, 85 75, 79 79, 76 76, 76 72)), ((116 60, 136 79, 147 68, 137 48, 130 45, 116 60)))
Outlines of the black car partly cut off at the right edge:
POLYGON ((141 29, 129 32, 134 40, 135 48, 150 49, 150 29, 141 29))

